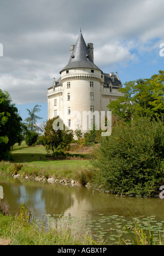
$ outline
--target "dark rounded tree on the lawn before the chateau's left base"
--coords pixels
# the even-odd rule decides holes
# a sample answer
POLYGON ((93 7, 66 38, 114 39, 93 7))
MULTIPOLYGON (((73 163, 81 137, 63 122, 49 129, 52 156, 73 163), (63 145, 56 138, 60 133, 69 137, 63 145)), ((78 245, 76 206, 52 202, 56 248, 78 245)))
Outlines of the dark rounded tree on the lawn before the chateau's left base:
POLYGON ((42 144, 46 147, 48 153, 52 152, 55 155, 57 150, 64 152, 69 149, 69 144, 73 139, 73 131, 66 130, 64 125, 63 130, 54 130, 53 123, 59 117, 55 117, 46 122, 45 132, 42 136, 42 144))

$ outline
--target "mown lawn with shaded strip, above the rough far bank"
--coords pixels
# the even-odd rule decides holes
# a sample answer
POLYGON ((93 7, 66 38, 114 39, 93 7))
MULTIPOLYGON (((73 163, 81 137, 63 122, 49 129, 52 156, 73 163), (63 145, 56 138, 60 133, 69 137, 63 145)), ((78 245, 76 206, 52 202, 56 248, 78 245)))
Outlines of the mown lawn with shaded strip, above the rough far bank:
POLYGON ((37 167, 57 167, 57 168, 69 168, 69 167, 89 167, 90 161, 83 158, 75 160, 54 160, 50 157, 46 157, 46 150, 43 146, 26 146, 25 142, 22 142, 21 146, 17 144, 11 150, 11 155, 16 163, 28 163, 28 166, 37 167))

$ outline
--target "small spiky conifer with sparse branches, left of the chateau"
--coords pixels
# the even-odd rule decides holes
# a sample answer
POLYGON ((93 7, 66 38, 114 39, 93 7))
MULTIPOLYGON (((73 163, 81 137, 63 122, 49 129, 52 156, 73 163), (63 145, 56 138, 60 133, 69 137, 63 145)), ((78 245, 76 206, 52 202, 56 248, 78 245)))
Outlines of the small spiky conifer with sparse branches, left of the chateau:
POLYGON ((27 109, 28 115, 29 117, 25 119, 25 121, 27 122, 27 127, 30 131, 40 131, 40 127, 37 126, 37 120, 43 119, 41 117, 38 117, 38 115, 36 115, 35 113, 40 112, 40 108, 41 106, 39 106, 38 104, 36 106, 34 106, 33 109, 27 109))

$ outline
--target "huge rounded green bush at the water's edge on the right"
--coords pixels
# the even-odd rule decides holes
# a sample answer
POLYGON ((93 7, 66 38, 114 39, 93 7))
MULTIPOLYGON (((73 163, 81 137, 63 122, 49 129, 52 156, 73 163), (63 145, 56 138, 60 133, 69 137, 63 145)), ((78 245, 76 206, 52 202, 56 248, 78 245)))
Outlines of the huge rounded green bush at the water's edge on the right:
POLYGON ((112 193, 151 197, 164 183, 164 126, 138 118, 118 124, 96 151, 95 181, 112 193))

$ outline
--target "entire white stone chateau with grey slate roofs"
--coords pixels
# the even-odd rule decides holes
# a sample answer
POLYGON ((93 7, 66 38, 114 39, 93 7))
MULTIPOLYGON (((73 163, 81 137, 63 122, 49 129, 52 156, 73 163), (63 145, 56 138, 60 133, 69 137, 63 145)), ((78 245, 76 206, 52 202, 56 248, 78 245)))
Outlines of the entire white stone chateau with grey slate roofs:
MULTIPOLYGON (((68 64, 60 71, 60 78, 47 91, 48 119, 57 117, 69 129, 82 127, 83 113, 109 111, 107 105, 121 95, 118 73, 103 73, 93 62, 93 44, 86 45, 80 31, 77 43, 71 45, 68 64)), ((92 119, 93 120, 93 119, 92 119)), ((88 122, 88 121, 87 121, 88 122)))

